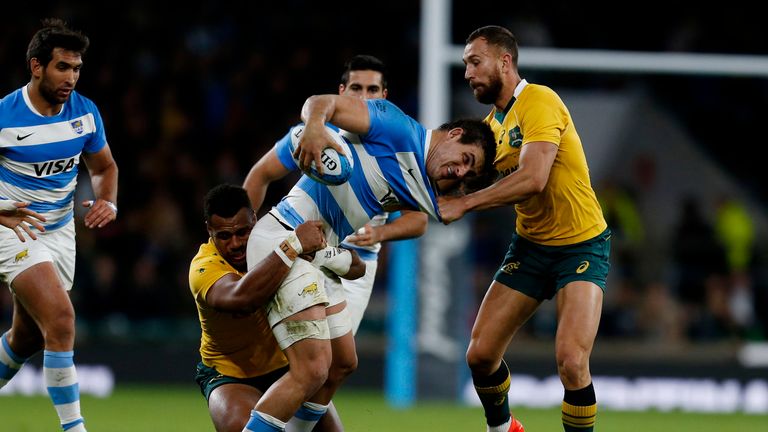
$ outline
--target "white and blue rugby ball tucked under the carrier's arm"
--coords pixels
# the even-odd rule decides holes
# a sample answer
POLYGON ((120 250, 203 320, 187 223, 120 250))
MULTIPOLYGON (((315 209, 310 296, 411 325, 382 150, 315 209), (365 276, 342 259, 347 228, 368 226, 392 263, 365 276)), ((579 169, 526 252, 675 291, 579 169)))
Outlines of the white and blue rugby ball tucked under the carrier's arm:
MULTIPOLYGON (((303 172, 315 181, 326 185, 337 186, 349 180, 352 176, 355 162, 352 157, 352 150, 349 147, 350 144, 347 140, 333 128, 326 126, 325 130, 328 132, 328 135, 330 135, 331 138, 344 149, 344 153, 339 154, 339 152, 332 147, 326 147, 323 149, 320 156, 323 163, 323 174, 320 175, 317 172, 317 167, 315 166, 314 161, 310 164, 310 167, 303 170, 303 172)), ((291 131, 291 154, 296 151, 299 138, 303 132, 304 125, 296 126, 291 131)), ((293 160, 296 162, 296 165, 299 164, 298 159, 294 157, 293 160)))

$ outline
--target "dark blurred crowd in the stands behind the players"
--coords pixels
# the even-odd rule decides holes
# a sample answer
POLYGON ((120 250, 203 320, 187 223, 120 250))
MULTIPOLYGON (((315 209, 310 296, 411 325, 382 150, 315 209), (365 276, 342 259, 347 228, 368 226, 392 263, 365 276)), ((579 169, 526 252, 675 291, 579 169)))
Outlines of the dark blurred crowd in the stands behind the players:
MULTIPOLYGON (((501 24, 518 35, 523 48, 768 55, 768 30, 759 14, 736 7, 667 7, 664 13, 644 8, 624 13, 647 19, 622 22, 598 20, 598 13, 608 12, 566 1, 486 3, 454 2, 452 43, 463 45, 481 25, 501 24)), ((221 182, 242 183, 251 164, 299 120, 306 97, 337 91, 347 58, 367 53, 384 60, 390 99, 406 113, 419 114, 419 2, 363 8, 360 2, 302 0, 183 7, 68 1, 4 8, 15 18, 0 27, 3 95, 29 81, 26 45, 41 18, 65 18, 91 38, 77 90, 96 102, 104 118, 120 168, 120 215, 98 231, 78 225, 72 296, 82 326, 79 343, 104 332, 135 335, 131 329, 137 326, 144 326, 134 336, 139 338, 168 328, 177 337, 199 337, 187 274, 207 237, 205 192, 221 182)), ((609 94, 622 106, 652 104, 664 124, 675 124, 697 157, 715 166, 730 186, 707 190, 708 173, 685 157, 672 162, 679 177, 659 176, 667 169, 660 161, 668 151, 663 146, 632 153, 621 172, 610 164, 592 167, 615 233, 601 338, 765 340, 768 249, 762 221, 768 170, 757 154, 768 78, 521 69, 529 81, 561 92, 569 106, 569 95, 578 106, 585 94, 609 94), (672 187, 670 178, 692 187, 661 201, 672 187)), ((462 74, 458 66, 451 73, 452 113, 484 115, 488 107, 467 96, 462 74)), ((577 127, 582 119, 594 123, 615 114, 589 106, 595 105, 574 112, 577 127)), ((647 130, 653 123, 621 124, 628 128, 616 132, 620 143, 656 141, 647 130)), ((588 150, 587 157, 599 155, 588 150)), ((266 202, 276 203, 294 180, 273 184, 266 202)), ((81 187, 76 201, 89 198, 81 187)), ((81 220, 82 210, 76 212, 81 220)), ((503 257, 513 218, 510 209, 500 209, 471 219, 474 286, 467 289, 473 300, 479 301, 503 257)), ((377 319, 386 313, 385 260, 363 334, 382 331, 377 319)), ((10 320, 9 302, 8 291, 0 292, 0 322, 10 320)), ((553 311, 537 314, 525 331, 549 335, 553 320, 553 311)))

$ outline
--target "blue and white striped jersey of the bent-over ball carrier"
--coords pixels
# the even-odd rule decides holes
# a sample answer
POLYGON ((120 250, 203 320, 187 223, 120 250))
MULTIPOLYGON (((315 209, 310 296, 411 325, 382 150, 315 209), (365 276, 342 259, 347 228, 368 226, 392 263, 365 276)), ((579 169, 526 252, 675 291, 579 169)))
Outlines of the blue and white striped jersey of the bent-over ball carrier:
MULTIPOLYGON (((432 132, 385 99, 366 104, 371 119, 368 133, 342 134, 355 161, 350 179, 328 186, 304 175, 275 206, 293 227, 322 220, 326 241, 333 246, 384 211, 409 208, 440 220, 426 171, 432 132)), ((286 168, 297 170, 290 148, 289 131, 275 144, 275 151, 286 168)))

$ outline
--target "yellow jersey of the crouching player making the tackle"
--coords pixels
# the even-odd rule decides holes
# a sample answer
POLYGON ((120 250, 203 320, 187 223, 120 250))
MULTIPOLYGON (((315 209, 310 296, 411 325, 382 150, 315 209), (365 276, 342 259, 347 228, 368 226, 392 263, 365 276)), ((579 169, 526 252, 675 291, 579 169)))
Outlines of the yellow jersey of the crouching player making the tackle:
POLYGON ((220 312, 206 303, 211 285, 229 273, 244 275, 219 255, 210 239, 200 246, 189 266, 189 289, 202 329, 203 364, 236 378, 263 375, 287 365, 262 310, 252 314, 220 312))

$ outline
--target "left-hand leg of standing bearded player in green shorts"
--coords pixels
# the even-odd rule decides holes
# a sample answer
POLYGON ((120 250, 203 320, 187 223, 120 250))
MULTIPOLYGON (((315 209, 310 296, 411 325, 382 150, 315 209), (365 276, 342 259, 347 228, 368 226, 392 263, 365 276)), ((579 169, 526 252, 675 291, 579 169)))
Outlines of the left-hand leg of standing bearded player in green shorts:
POLYGON ((503 360, 504 352, 538 305, 538 300, 498 281, 491 284, 480 305, 467 349, 467 365, 472 371, 489 432, 510 430, 510 375, 503 360))

